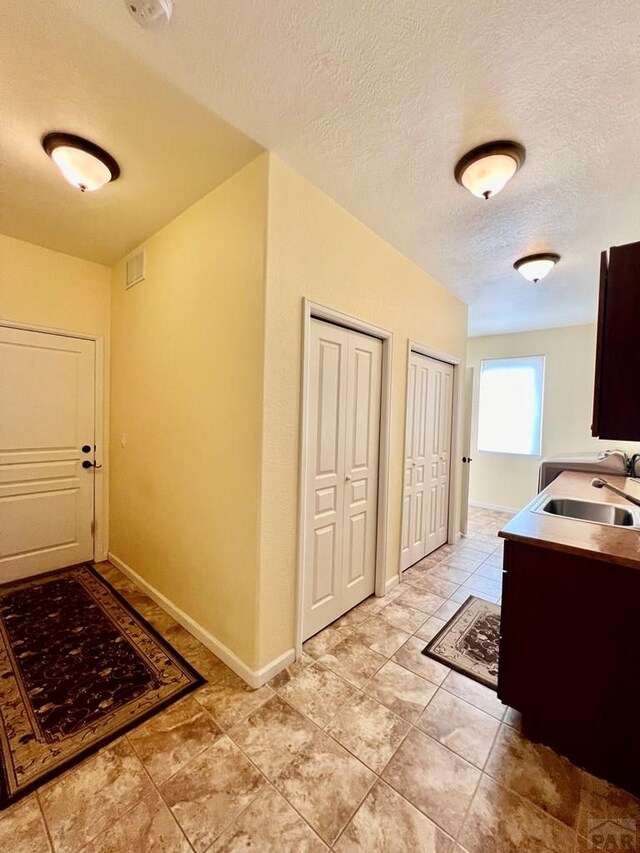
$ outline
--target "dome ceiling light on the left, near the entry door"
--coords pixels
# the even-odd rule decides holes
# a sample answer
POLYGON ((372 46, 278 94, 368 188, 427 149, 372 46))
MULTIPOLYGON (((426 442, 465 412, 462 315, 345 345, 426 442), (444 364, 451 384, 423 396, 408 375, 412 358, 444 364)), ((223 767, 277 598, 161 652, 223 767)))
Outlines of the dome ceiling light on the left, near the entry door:
POLYGON ((81 192, 99 190, 120 174, 111 154, 81 136, 47 133, 42 147, 69 183, 81 192))

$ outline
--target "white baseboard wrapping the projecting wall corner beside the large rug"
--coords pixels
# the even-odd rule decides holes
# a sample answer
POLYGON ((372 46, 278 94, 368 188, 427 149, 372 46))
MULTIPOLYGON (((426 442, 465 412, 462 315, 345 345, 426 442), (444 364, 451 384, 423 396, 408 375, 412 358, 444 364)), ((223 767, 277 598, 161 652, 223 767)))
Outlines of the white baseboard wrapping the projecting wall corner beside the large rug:
POLYGON ((126 575, 129 580, 131 580, 136 586, 140 587, 143 592, 149 596, 149 598, 153 599, 155 603, 162 607, 163 610, 166 610, 176 622, 179 622, 183 628, 185 628, 190 634, 199 640, 203 646, 206 646, 209 651, 213 652, 213 654, 220 658, 223 663, 232 669, 236 675, 239 675, 243 681, 246 681, 250 687, 262 687, 263 684, 266 684, 267 681, 272 679, 275 675, 281 672, 286 666, 296 658, 295 649, 288 649, 286 652, 283 652, 279 657, 270 661, 266 666, 263 666, 262 669, 250 669, 246 663, 241 660, 235 652, 232 652, 228 646, 225 646, 224 643, 221 643, 213 634, 207 631, 206 628, 203 628, 200 623, 196 622, 195 619, 192 619, 184 610, 181 610, 176 604, 174 604, 170 599, 159 592, 149 581, 145 580, 142 575, 139 575, 131 566, 128 566, 124 560, 121 560, 115 554, 109 552, 107 555, 107 559, 110 563, 120 569, 120 571, 126 575))

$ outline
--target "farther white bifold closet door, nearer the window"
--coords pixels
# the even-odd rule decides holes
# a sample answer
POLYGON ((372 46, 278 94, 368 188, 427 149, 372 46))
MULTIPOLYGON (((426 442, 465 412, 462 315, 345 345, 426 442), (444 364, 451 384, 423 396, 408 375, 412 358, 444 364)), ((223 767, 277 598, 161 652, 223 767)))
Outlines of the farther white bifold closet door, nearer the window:
POLYGON ((447 541, 453 366, 419 353, 409 359, 401 567, 447 541))

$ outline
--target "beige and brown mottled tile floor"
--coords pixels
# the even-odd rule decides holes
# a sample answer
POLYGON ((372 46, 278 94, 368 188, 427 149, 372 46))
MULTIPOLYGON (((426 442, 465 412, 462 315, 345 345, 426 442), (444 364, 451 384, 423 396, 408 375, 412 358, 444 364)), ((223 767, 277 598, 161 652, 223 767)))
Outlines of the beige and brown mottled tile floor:
MULTIPOLYGON (((640 802, 525 741, 495 693, 421 654, 500 599, 506 516, 446 545, 251 690, 108 563, 208 684, 0 814, 11 853, 577 853, 640 802)), ((633 848, 631 848, 633 849, 633 848)), ((639 848, 640 849, 640 848, 639 848)))

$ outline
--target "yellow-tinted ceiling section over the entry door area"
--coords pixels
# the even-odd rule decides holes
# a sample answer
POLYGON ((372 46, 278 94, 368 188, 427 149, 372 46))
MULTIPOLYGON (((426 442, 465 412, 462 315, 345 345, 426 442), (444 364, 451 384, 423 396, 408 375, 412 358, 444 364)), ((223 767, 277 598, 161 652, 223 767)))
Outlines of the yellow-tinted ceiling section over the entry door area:
POLYGON ((63 5, 0 0, 0 232, 111 264, 261 148, 63 5), (75 190, 40 146, 51 130, 102 145, 120 179, 75 190))

